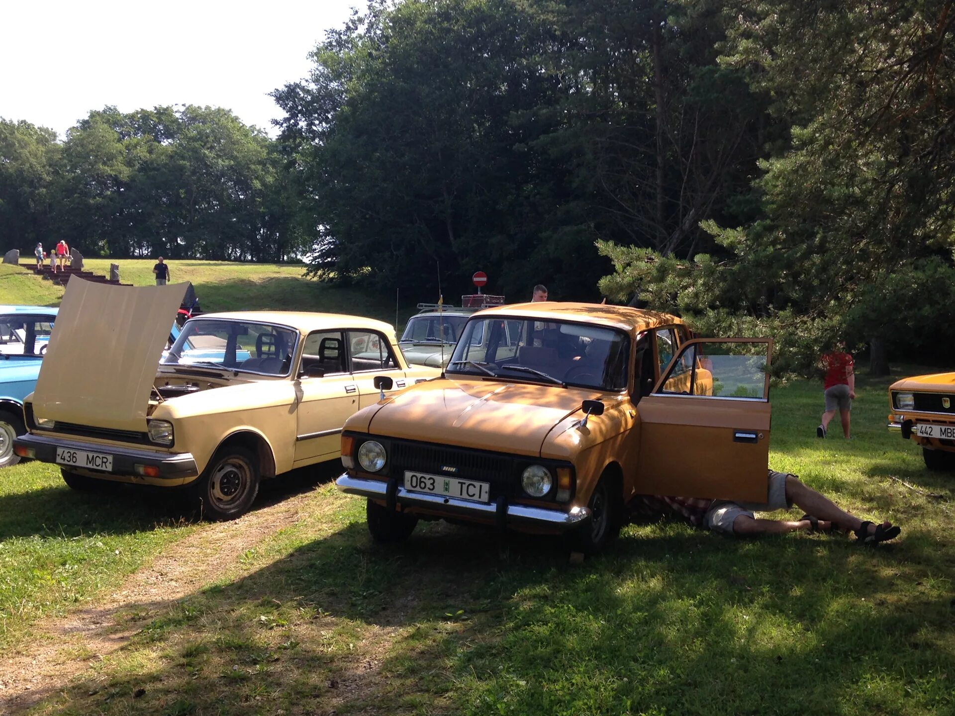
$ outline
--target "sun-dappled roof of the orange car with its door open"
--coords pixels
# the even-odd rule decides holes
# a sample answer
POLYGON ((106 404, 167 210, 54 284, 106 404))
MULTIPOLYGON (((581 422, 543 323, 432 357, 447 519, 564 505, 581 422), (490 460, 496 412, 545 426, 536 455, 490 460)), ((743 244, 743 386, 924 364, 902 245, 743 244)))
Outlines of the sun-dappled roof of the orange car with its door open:
POLYGON ((683 319, 669 313, 631 308, 628 305, 580 304, 561 301, 538 301, 526 304, 496 305, 484 308, 472 317, 514 316, 535 321, 574 321, 634 332, 654 326, 682 324, 683 319))

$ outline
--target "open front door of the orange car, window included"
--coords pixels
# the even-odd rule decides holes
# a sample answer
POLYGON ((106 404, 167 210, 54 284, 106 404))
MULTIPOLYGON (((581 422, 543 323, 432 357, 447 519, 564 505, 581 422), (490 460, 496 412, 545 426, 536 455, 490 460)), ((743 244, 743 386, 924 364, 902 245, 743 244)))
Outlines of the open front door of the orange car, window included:
POLYGON ((644 495, 765 501, 769 338, 695 338, 640 401, 644 495))

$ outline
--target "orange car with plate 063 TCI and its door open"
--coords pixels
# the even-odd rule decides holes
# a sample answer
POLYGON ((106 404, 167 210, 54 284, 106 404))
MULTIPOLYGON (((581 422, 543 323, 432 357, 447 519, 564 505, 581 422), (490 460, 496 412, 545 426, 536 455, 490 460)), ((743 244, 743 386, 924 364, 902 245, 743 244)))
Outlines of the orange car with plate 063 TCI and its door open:
POLYGON ((440 379, 349 418, 336 484, 379 541, 452 518, 595 552, 634 495, 766 498, 770 350, 625 306, 482 310, 440 379))

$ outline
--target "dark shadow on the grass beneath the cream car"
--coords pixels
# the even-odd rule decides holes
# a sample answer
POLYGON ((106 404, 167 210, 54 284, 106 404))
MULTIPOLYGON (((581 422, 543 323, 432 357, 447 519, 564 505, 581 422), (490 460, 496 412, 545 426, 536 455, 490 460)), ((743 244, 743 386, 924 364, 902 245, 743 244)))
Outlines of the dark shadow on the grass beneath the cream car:
MULTIPOLYGON (((314 489, 340 473, 340 464, 331 461, 265 480, 252 511, 314 489)), ((95 492, 79 492, 62 483, 0 495, 0 541, 10 537, 115 535, 200 521, 179 488, 106 481, 99 488, 95 492)))

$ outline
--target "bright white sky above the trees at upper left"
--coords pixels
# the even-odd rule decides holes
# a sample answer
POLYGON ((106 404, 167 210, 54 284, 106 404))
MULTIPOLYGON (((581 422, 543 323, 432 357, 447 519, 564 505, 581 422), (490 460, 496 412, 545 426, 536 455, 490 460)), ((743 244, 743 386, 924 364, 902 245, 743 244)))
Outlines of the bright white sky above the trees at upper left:
POLYGON ((0 0, 0 117, 60 139, 90 110, 225 107, 275 136, 268 93, 308 75, 364 0, 0 0))

